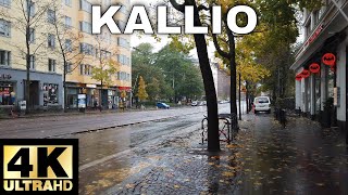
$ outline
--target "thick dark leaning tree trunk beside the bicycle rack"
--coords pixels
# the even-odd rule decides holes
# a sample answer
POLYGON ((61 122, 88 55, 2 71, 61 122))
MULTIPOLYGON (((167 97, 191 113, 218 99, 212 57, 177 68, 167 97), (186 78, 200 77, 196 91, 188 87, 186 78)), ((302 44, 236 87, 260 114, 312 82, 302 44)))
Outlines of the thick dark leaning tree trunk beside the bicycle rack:
MULTIPOLYGON (((199 16, 201 6, 198 8, 195 0, 185 0, 179 4, 176 0, 170 0, 171 4, 179 12, 185 12, 185 5, 194 6, 194 25, 202 26, 202 22, 199 16)), ((208 57, 207 41, 204 35, 194 35, 198 60, 200 64, 200 70, 203 78, 204 91, 207 98, 208 107, 208 151, 220 151, 219 139, 219 117, 217 117, 217 98, 214 86, 214 79, 210 67, 210 61, 208 57)))

